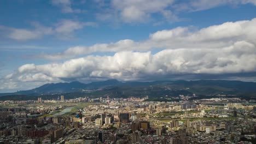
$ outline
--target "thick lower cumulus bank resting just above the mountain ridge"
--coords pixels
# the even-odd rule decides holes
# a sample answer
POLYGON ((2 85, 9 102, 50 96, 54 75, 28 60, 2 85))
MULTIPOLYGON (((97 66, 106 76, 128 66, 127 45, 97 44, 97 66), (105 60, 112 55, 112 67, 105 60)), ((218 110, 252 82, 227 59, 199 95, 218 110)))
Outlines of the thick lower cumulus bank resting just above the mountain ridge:
POLYGON ((138 80, 154 75, 230 74, 255 70, 255 44, 237 41, 223 49, 174 49, 155 54, 123 51, 114 56, 87 56, 63 63, 25 64, 6 78, 22 82, 92 78, 138 80))

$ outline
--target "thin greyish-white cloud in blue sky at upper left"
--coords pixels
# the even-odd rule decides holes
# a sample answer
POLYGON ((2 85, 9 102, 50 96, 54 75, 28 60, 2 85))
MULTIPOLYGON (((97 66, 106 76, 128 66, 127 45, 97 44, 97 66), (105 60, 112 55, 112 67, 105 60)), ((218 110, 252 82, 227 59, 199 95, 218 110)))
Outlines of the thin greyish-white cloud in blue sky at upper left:
POLYGON ((39 39, 45 35, 57 35, 59 38, 72 38, 73 32, 82 29, 85 26, 97 26, 95 22, 80 22, 74 20, 61 20, 55 26, 45 27, 37 22, 32 22, 34 28, 13 28, 0 25, 0 32, 10 39, 14 40, 32 40, 39 39))

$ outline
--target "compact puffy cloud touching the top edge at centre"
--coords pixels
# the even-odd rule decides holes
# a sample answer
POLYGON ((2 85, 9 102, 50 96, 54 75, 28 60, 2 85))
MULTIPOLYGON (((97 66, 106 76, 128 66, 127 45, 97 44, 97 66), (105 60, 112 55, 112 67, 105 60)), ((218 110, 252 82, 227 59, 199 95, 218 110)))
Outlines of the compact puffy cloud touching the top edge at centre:
POLYGON ((152 14, 162 14, 168 16, 169 21, 176 21, 177 16, 167 14, 165 10, 173 4, 173 0, 131 0, 121 1, 112 0, 109 2, 109 7, 104 9, 102 13, 97 14, 100 20, 123 21, 125 23, 147 22, 152 19, 152 14), (163 13, 164 11, 164 13, 163 13), (171 15, 172 16, 171 16, 171 15))

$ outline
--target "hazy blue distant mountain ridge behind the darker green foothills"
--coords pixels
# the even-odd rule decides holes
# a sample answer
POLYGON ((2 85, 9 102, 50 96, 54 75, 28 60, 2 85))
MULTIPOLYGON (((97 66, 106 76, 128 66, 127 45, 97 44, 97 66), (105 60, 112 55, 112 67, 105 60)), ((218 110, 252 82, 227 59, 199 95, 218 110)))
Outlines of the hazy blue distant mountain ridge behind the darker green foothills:
POLYGON ((214 94, 214 93, 249 93, 256 92, 255 82, 243 82, 243 81, 228 81, 228 80, 196 80, 196 81, 152 81, 152 82, 138 82, 129 81, 121 82, 115 79, 106 81, 98 81, 91 83, 82 83, 78 81, 63 82, 63 83, 47 83, 43 86, 14 93, 0 93, 0 97, 3 95, 42 95, 42 94, 60 94, 60 93, 72 93, 83 92, 91 89, 109 89, 109 88, 148 88, 154 87, 168 87, 173 89, 184 89, 190 93, 199 94, 214 94))

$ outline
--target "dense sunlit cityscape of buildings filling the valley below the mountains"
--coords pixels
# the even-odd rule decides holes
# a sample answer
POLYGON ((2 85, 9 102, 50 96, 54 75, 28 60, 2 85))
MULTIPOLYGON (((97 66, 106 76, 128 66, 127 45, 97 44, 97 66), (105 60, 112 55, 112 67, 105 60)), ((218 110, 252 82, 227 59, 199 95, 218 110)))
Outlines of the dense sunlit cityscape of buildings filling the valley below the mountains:
POLYGON ((191 97, 0 101, 0 143, 255 143, 254 100, 191 97))

